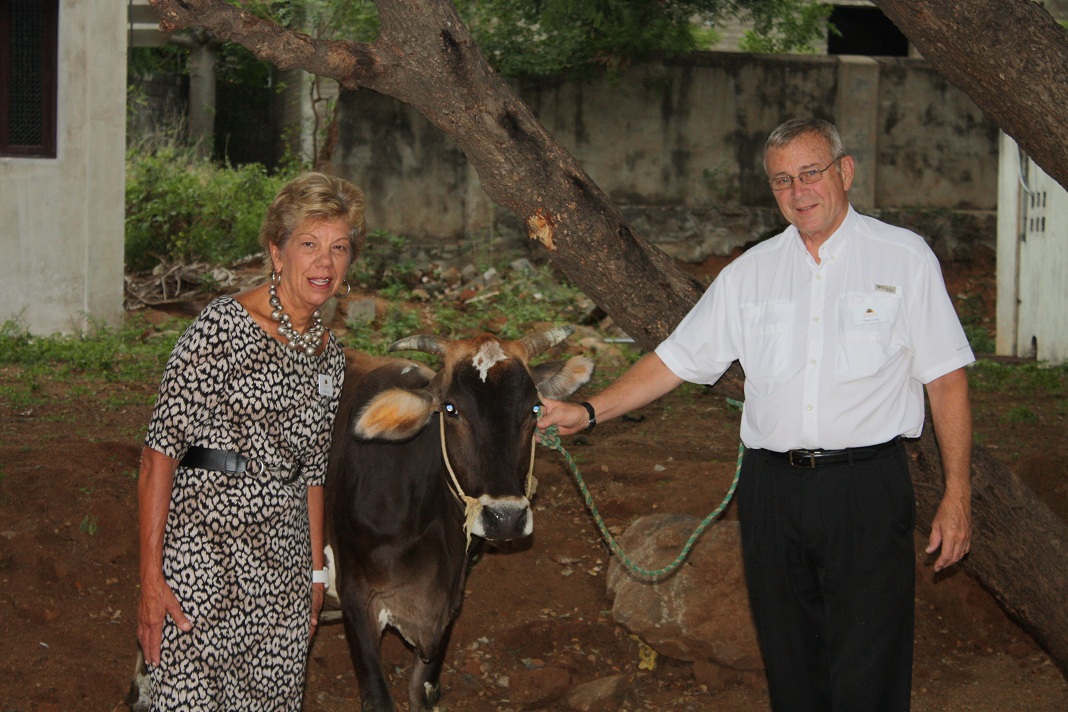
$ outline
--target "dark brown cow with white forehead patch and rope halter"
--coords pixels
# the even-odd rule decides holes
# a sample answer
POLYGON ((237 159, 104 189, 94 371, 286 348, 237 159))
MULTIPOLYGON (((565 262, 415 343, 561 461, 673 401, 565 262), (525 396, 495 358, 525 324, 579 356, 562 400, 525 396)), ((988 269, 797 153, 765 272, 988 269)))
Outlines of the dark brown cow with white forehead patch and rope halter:
POLYGON ((521 341, 413 336, 440 369, 349 353, 327 477, 328 538, 365 711, 394 710, 379 650, 387 628, 413 648, 410 709, 440 694, 464 582, 484 541, 533 531, 533 437, 539 394, 566 398, 593 364, 530 366, 571 329, 521 341))

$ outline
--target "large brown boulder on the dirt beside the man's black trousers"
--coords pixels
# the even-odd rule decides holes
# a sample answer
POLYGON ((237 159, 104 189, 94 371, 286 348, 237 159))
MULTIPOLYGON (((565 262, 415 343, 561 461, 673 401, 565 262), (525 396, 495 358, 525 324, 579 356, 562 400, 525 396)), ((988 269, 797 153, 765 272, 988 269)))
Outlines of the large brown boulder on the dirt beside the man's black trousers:
MULTIPOLYGON (((627 555, 645 569, 668 566, 700 524, 693 517, 656 515, 619 537, 627 555)), ((613 558, 608 572, 612 616, 657 652, 711 661, 736 670, 764 667, 745 592, 738 523, 712 524, 686 563, 650 583, 613 558)))

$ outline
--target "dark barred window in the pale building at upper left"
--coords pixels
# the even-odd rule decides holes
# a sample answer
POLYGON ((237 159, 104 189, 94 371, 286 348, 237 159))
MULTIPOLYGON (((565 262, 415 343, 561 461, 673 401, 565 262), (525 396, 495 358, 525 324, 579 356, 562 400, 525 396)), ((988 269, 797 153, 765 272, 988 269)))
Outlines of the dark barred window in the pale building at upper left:
POLYGON ((58 0, 0 0, 0 156, 56 157, 58 0))

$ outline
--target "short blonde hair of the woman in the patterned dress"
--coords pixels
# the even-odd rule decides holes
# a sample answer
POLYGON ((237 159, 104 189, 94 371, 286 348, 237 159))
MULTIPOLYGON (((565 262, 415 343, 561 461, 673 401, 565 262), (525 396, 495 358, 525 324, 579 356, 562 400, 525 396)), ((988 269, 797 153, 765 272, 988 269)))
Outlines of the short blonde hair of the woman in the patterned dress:
POLYGON ((269 255, 271 246, 283 249, 293 231, 309 220, 341 220, 349 226, 351 264, 363 249, 366 235, 363 209, 363 191, 348 180, 325 173, 302 173, 285 184, 271 201, 260 227, 260 244, 269 255))

